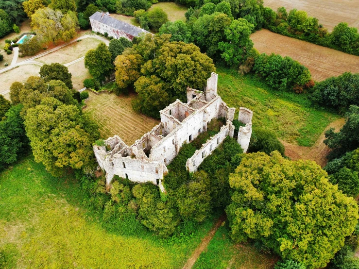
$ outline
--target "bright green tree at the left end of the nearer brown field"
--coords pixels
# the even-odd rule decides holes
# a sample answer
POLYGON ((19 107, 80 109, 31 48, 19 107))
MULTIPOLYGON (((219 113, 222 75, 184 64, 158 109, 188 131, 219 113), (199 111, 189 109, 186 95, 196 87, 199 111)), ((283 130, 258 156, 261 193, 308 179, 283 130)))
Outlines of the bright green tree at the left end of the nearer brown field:
POLYGON ((247 52, 253 48, 250 39, 252 29, 253 24, 244 18, 239 18, 232 21, 224 30, 226 41, 220 42, 218 47, 223 51, 221 56, 229 66, 239 66, 246 59, 247 52))

